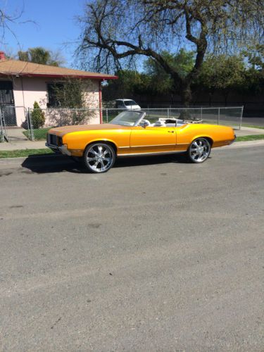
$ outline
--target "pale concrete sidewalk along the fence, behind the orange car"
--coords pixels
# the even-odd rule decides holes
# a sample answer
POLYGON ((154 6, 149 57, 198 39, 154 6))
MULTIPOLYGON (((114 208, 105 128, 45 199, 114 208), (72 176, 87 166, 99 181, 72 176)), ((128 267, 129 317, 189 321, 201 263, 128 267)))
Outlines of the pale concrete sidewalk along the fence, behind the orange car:
MULTIPOLYGON (((237 137, 248 136, 249 134, 264 134, 260 128, 241 127, 241 130, 235 130, 237 137)), ((46 141, 32 142, 29 140, 16 140, 11 142, 0 143, 0 151, 14 151, 18 149, 44 149, 46 141)))

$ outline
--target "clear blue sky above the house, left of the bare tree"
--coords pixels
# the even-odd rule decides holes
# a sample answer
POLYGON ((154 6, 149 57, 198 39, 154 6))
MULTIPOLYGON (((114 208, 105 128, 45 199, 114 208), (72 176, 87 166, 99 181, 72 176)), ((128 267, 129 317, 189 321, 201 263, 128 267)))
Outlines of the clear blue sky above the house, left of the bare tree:
POLYGON ((12 25, 17 39, 6 33, 5 44, 1 49, 15 54, 20 48, 44 46, 53 51, 59 50, 65 58, 65 66, 74 67, 74 44, 80 34, 76 16, 83 14, 85 0, 0 0, 1 8, 8 14, 24 13, 19 21, 32 20, 34 23, 12 25))

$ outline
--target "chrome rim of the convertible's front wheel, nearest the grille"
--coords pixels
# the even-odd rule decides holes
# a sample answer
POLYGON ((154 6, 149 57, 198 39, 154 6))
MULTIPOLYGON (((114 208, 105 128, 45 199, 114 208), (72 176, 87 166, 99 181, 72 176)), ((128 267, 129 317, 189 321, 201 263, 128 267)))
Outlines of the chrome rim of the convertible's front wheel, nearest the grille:
POLYGON ((106 144, 93 144, 87 153, 87 163, 95 172, 103 172, 111 167, 113 152, 106 144))

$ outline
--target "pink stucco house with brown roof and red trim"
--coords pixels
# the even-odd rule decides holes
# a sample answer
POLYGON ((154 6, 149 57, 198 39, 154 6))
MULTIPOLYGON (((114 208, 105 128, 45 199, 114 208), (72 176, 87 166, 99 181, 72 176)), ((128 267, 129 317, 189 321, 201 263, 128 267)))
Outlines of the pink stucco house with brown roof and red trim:
MULTIPOLYGON (((34 101, 41 108, 53 108, 52 87, 65 77, 84 80, 87 108, 101 108, 101 82, 118 77, 102 73, 39 65, 5 58, 0 51, 0 106, 11 106, 6 125, 20 126, 25 120, 24 108, 32 108, 34 101)), ((100 123, 101 113, 91 123, 100 123)))

